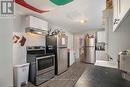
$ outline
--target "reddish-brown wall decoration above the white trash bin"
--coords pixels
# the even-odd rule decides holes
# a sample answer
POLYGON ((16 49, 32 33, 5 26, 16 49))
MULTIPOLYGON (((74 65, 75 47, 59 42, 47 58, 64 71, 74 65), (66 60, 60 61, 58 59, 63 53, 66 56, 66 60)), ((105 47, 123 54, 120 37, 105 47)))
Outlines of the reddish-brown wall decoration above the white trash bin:
POLYGON ((21 46, 24 46, 25 42, 26 42, 26 38, 23 35, 22 36, 19 36, 16 34, 13 35, 13 43, 14 44, 20 44, 21 46))

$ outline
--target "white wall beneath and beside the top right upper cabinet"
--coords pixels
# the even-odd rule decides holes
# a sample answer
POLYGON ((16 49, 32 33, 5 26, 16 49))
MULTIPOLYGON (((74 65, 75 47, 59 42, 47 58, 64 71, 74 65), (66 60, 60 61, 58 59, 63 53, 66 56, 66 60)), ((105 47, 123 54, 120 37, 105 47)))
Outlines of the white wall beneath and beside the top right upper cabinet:
POLYGON ((123 50, 130 49, 130 16, 121 24, 116 32, 112 30, 112 11, 109 14, 109 40, 108 40, 108 53, 117 61, 118 53, 123 50))

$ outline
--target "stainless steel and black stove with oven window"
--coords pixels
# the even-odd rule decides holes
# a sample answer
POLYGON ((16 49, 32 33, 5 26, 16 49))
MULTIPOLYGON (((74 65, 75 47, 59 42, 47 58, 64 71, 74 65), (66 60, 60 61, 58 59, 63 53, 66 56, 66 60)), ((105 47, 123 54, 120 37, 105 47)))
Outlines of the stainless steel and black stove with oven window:
POLYGON ((55 76, 55 55, 46 54, 43 46, 27 47, 27 62, 30 63, 29 81, 34 85, 40 85, 55 76))

